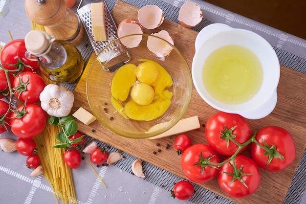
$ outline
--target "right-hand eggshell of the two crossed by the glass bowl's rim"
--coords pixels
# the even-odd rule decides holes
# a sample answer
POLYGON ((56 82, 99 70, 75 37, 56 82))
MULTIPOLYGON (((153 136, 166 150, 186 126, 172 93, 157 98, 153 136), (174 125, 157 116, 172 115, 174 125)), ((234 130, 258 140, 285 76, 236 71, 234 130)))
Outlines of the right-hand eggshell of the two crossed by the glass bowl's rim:
MULTIPOLYGON (((169 42, 171 45, 174 45, 173 37, 166 30, 161 30, 158 33, 153 33, 152 35, 160 37, 165 41, 169 42)), ((165 57, 170 54, 173 47, 166 43, 165 41, 149 36, 147 41, 148 49, 153 52, 157 57, 165 57)))

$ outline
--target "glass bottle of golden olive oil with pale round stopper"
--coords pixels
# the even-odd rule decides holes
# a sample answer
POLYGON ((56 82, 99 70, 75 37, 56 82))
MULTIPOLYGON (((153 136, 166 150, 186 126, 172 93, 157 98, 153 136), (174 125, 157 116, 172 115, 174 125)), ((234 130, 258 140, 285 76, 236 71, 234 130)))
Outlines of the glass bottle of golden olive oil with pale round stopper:
POLYGON ((26 57, 38 60, 41 71, 56 83, 75 81, 84 68, 80 51, 65 40, 55 40, 41 30, 30 31, 24 38, 26 57))

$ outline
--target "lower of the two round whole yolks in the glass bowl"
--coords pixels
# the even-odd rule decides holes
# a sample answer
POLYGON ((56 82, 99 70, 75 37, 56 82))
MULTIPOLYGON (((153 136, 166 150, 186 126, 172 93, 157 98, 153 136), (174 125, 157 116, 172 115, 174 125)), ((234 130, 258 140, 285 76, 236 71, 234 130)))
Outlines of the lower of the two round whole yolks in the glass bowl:
POLYGON ((154 90, 149 84, 138 83, 131 91, 132 99, 141 106, 149 105, 154 98, 154 90))

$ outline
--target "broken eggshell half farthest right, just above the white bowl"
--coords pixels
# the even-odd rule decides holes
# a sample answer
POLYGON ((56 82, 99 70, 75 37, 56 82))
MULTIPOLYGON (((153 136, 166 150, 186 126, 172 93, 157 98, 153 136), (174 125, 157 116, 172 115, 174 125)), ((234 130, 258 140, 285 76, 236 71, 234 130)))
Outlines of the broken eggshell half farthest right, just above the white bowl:
POLYGON ((184 27, 195 27, 202 21, 202 18, 201 8, 197 3, 191 1, 185 2, 178 12, 178 22, 184 27))

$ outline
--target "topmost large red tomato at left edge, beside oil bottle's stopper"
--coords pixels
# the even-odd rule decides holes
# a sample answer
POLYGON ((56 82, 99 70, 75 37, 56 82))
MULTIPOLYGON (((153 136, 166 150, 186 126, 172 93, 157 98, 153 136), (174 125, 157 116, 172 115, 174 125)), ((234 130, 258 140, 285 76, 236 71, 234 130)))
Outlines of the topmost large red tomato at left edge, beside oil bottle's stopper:
POLYGON ((25 51, 24 39, 17 39, 7 43, 1 50, 0 61, 2 66, 9 70, 15 70, 21 67, 24 71, 36 72, 39 67, 38 62, 27 59, 24 56, 25 51), (18 62, 18 58, 21 59, 21 62, 18 62), (17 65, 16 67, 12 67, 8 64, 17 65), (29 67, 24 66, 24 64, 29 67))

